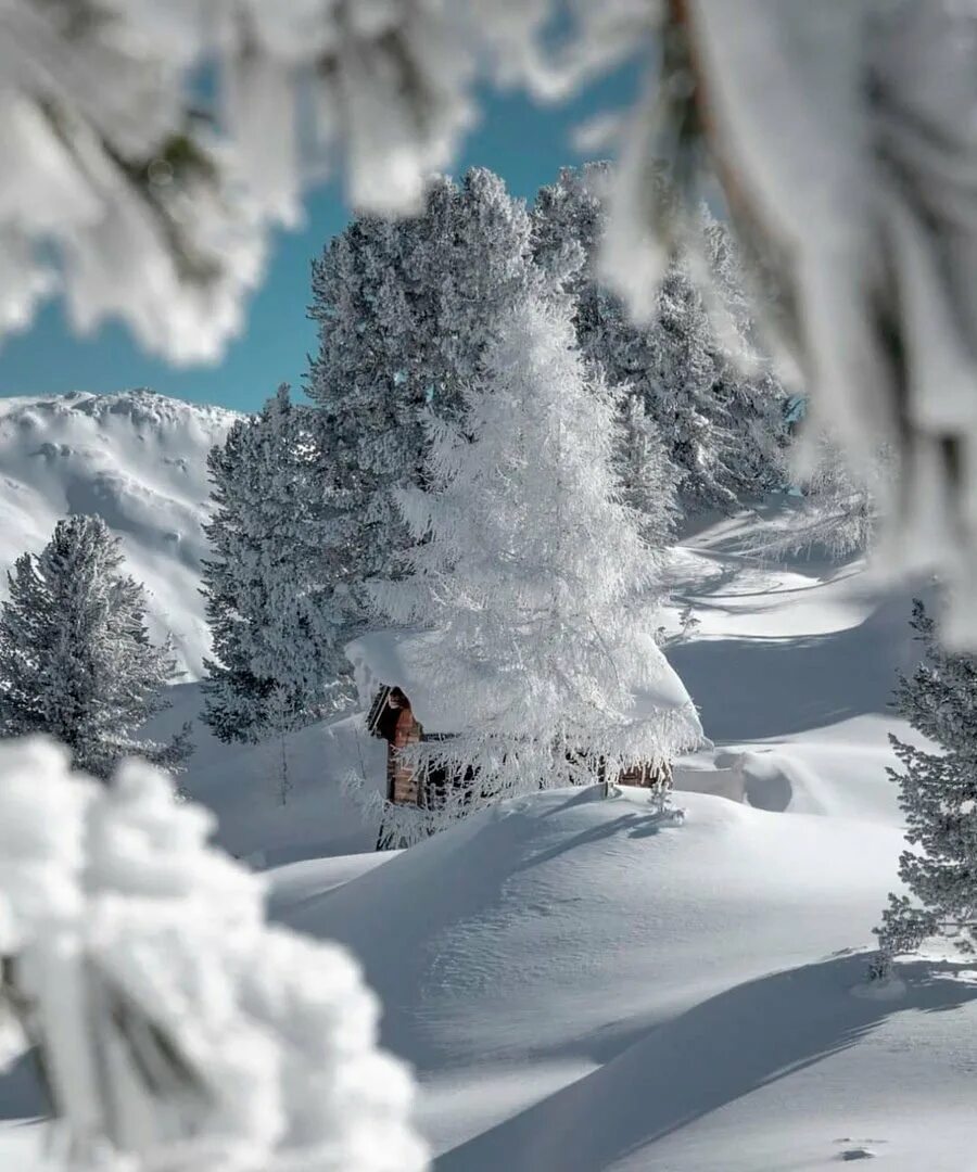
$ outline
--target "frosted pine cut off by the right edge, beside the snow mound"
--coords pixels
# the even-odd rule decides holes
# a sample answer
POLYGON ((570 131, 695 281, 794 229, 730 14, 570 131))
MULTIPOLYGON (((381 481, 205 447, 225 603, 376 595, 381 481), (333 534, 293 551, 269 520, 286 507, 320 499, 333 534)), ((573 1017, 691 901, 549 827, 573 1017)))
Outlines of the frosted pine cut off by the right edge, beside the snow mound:
POLYGON ((889 775, 900 786, 907 838, 918 850, 900 856, 900 879, 911 898, 889 897, 876 928, 875 975, 937 934, 952 935, 963 952, 977 950, 977 659, 941 647, 920 599, 911 626, 923 660, 910 676, 900 676, 896 708, 939 751, 889 737, 902 765, 889 775))

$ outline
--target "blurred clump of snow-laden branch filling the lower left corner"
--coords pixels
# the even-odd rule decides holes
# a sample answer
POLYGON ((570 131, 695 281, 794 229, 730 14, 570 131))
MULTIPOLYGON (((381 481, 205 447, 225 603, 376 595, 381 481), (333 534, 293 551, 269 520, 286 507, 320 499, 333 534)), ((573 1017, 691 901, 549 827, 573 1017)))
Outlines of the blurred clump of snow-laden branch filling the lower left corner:
POLYGON ((210 815, 42 740, 0 745, 0 1056, 36 1047, 66 1167, 426 1167, 355 963, 264 922, 210 815))

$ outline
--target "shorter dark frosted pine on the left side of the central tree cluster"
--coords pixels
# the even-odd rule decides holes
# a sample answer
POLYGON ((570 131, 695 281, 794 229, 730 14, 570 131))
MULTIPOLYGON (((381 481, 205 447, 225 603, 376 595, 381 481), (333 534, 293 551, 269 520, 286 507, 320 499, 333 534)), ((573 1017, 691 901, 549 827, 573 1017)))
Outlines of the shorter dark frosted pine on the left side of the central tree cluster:
POLYGON ((202 687, 204 720, 222 741, 283 737, 347 694, 340 592, 325 585, 331 503, 318 435, 283 386, 208 459, 212 557, 202 578, 213 654, 202 687))

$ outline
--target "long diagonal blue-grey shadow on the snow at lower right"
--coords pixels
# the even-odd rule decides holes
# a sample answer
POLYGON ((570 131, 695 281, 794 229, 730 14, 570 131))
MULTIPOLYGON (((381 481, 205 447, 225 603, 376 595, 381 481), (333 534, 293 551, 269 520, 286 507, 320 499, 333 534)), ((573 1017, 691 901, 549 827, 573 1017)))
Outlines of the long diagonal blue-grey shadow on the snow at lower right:
POLYGON ((955 1009, 977 984, 950 965, 901 966, 897 1000, 852 994, 866 955, 737 986, 653 1027, 606 1065, 445 1153, 439 1172, 599 1172, 701 1116, 856 1044, 895 1013, 955 1009))

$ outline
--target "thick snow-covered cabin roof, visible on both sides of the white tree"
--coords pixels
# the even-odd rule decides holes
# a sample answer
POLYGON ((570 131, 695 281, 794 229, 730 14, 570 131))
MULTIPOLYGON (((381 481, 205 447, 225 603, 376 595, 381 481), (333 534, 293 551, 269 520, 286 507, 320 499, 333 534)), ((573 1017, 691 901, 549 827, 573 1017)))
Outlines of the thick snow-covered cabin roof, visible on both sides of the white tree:
MULTIPOLYGON (((379 688, 396 687, 411 701, 414 716, 430 732, 454 732, 471 720, 487 720, 490 689, 484 689, 486 710, 473 713, 455 702, 461 695, 479 695, 477 688, 442 688, 427 669, 429 648, 437 639, 430 631, 373 631, 346 646, 353 665, 357 691, 364 708, 369 708, 379 688)), ((625 714, 633 721, 647 720, 667 711, 672 727, 679 725, 678 740, 692 748, 703 741, 703 727, 685 684, 660 650, 650 642, 654 670, 629 688, 631 706, 625 714)), ((474 672, 475 668, 473 667, 474 672)), ((477 680, 473 680, 477 684, 477 680)))

